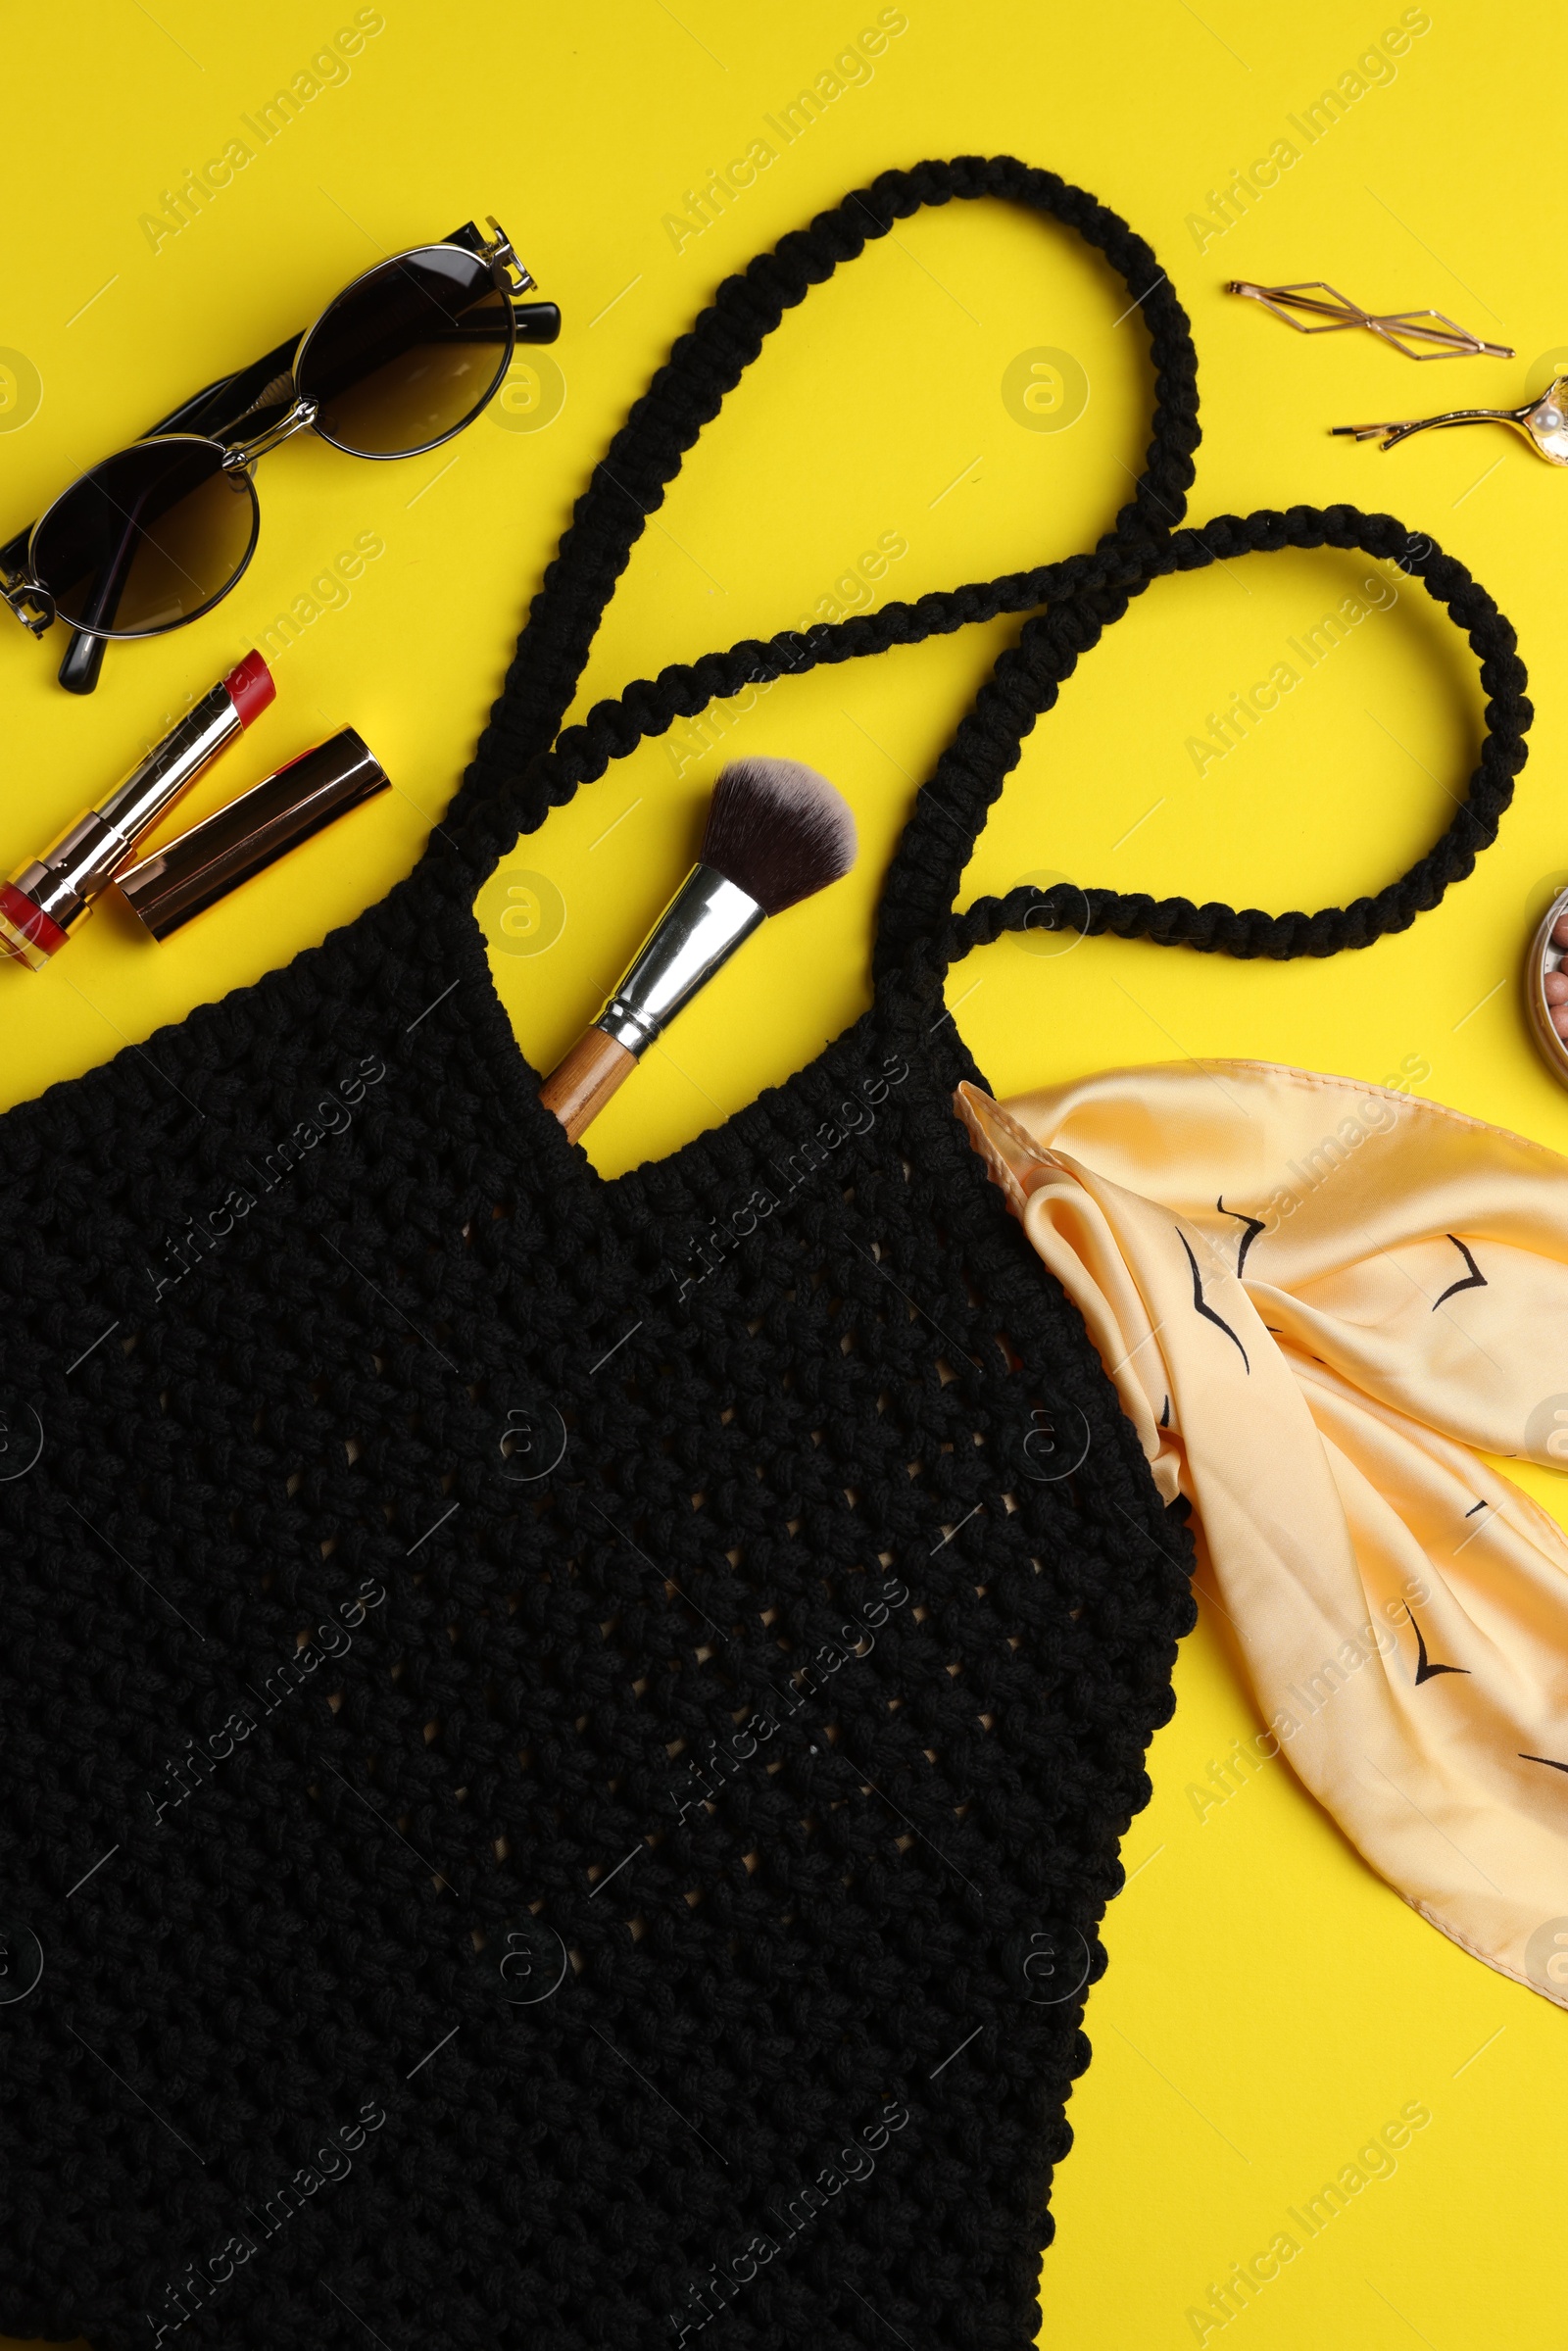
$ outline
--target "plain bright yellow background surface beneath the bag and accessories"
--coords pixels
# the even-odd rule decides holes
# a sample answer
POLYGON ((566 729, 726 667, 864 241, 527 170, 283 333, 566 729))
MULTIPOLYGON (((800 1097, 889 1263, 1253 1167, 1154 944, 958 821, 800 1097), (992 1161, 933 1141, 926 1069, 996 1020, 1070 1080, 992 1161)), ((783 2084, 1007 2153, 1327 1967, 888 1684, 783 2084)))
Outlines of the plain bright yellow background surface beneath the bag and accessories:
MULTIPOLYGON (((259 475, 263 536, 240 590, 158 644, 110 651, 68 701, 47 649, 0 639, 0 870, 40 849, 277 614, 310 597, 277 705, 207 778, 216 804, 336 724, 395 795, 158 950, 99 915, 42 978, 0 971, 5 1100, 143 1041, 317 940, 402 875, 498 691, 527 600, 628 402, 717 280, 893 162, 1013 150, 1093 188, 1152 242, 1201 357, 1197 520, 1349 498, 1455 550, 1514 618, 1537 724, 1500 846, 1415 931, 1331 964, 1239 966, 1150 945, 1030 955, 1001 943, 950 1002, 997 1091, 1107 1063, 1265 1056, 1420 1091, 1568 1150, 1568 1096, 1519 1004, 1526 933, 1568 875, 1561 797, 1561 545, 1568 484, 1497 428, 1389 456, 1326 426, 1519 402, 1568 346, 1554 172, 1563 38, 1552 19, 1432 0, 1396 75, 1307 146, 1288 127, 1399 9, 1319 0, 1145 0, 1135 9, 907 0, 907 31, 701 235, 665 214, 743 155, 877 21, 858 0, 576 0, 465 9, 386 0, 383 28, 176 235, 143 214, 221 155, 353 21, 331 0, 263 9, 103 0, 87 21, 5 12, 12 233, 0 346, 0 524, 294 327, 383 249, 496 212, 559 299, 564 404, 520 376, 503 421, 407 465, 294 444, 259 475), (1190 214, 1276 139, 1300 160, 1199 249, 1190 214), (1227 277, 1328 277, 1373 308, 1432 303, 1519 357, 1413 367, 1363 334, 1305 341, 1227 277), (1547 362, 1542 367, 1540 362, 1547 362), (0 362, 5 364, 5 362, 0 362), (7 383, 12 390, 7 393, 7 383), (374 531, 386 552, 313 597, 374 531)), ((256 146, 256 141, 252 141, 256 146)), ((853 567, 907 543, 877 595, 985 578, 1086 545, 1138 465, 1147 346, 1126 294, 1067 235, 999 207, 900 226, 788 315, 686 461, 632 555, 581 708, 665 661, 865 602, 853 567), (1065 350, 1088 407, 1065 430, 1004 402, 1020 353, 1065 350), (835 581, 842 585, 835 590, 835 581)), ((1568 364, 1568 362, 1566 362, 1568 364)), ((1044 397, 1051 397, 1053 379, 1044 397)), ((1373 614, 1267 724, 1199 776, 1187 750, 1354 588, 1354 557, 1288 555, 1157 585, 1025 750, 966 889, 1020 875, 1316 905, 1375 889, 1427 844, 1474 762, 1474 663, 1420 590, 1373 614)), ((865 578, 865 574, 860 574, 865 578)), ((745 950, 592 1133, 616 1171, 785 1077, 867 997, 882 868, 914 778, 1016 623, 773 689, 733 743, 804 757, 860 818, 853 882, 745 950)), ((1288 658, 1288 656, 1284 656, 1288 658)), ((701 743, 696 745, 701 750, 701 743)), ((522 1049, 548 1067, 597 1009, 679 877, 722 752, 644 745, 520 846, 482 900, 522 1049), (679 773, 677 773, 679 766, 679 773), (614 828, 614 830, 611 830, 614 828), (538 882, 520 879, 543 877, 538 882), (557 936, 541 910, 559 893, 557 936), (505 917, 505 926, 503 926, 505 917), (529 929, 534 924, 534 929, 529 929), (517 947, 534 952, 517 952, 517 947)), ((1561 1371, 1542 1375, 1563 1387, 1561 1371)), ((1530 1491, 1561 1514, 1561 1483, 1530 1491)), ((1187 1789, 1255 1728, 1206 1608, 1154 1744, 1154 1803, 1126 1843, 1095 2062, 1072 2102, 1044 2342, 1197 2339, 1187 2309, 1291 2226, 1406 2102, 1432 2123, 1244 2316, 1251 2351, 1552 2351, 1561 2344, 1561 2012, 1408 1911, 1291 1780, 1267 1770, 1199 1817, 1187 1789)), ((1568 1902, 1563 1904, 1568 1909, 1568 1902)), ((7 2161, 26 2163, 26 2149, 7 2161)), ((1298 2231, 1300 2233, 1300 2231, 1298 2231)))

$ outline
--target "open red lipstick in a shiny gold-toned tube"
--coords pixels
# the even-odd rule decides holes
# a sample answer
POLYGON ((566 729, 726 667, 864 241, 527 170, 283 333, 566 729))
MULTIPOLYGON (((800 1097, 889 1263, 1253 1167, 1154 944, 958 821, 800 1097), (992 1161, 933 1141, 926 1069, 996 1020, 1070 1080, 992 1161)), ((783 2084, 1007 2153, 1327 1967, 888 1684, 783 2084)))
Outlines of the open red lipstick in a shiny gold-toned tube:
POLYGON ((275 691, 261 654, 247 654, 136 762, 99 809, 78 816, 42 858, 0 882, 0 947, 31 971, 42 971, 99 891, 132 860, 136 842, 266 710, 275 691))

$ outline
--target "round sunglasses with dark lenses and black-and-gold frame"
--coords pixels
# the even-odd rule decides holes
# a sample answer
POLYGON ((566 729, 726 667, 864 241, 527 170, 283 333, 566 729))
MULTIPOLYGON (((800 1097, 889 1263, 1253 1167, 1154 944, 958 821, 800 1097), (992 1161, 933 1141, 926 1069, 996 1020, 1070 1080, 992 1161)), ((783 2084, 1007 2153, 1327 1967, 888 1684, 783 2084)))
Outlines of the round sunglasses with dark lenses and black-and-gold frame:
MULTIPOLYGON (((261 531, 252 468, 296 433, 348 456, 440 449, 496 395, 520 339, 555 341, 555 303, 515 308, 534 277, 498 221, 416 245, 355 277, 270 379, 259 362, 209 386, 167 426, 237 386, 240 414, 207 433, 153 430, 103 458, 0 550, 0 592, 42 635, 52 621, 92 637, 158 637, 200 621, 244 574, 261 531), (465 242, 465 240, 473 240, 465 242), (5 557, 12 557, 5 562, 5 557)), ((216 400, 223 407, 223 400, 216 400)), ((233 400, 230 400, 233 407, 233 400)))

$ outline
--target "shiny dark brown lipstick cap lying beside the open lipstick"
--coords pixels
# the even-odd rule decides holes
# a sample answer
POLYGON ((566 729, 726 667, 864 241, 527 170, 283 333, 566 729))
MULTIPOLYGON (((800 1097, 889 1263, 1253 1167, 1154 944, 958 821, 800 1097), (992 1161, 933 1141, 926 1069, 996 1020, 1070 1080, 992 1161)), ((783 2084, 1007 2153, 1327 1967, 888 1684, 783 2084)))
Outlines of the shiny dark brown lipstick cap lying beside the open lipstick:
POLYGON ((118 872, 113 886, 153 938, 169 938, 313 832, 386 792, 388 783, 374 752, 353 726, 343 726, 190 832, 118 872))

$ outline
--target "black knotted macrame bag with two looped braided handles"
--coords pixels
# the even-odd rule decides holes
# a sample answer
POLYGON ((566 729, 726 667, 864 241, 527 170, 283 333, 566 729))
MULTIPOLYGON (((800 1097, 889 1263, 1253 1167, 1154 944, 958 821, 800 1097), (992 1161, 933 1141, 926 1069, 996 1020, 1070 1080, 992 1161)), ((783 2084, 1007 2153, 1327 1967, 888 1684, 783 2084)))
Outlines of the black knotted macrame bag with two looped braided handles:
POLYGON ((952 1114, 978 1072, 943 973, 1023 922, 1368 945, 1469 872, 1528 724, 1460 564, 1347 508, 1175 529, 1194 447, 1187 320, 1114 214, 1006 158, 884 174, 675 346, 416 872, 0 1121, 2 2330, 1032 2344, 1098 1921, 1194 1610, 1182 1516, 952 1114), (1114 529, 557 741, 783 310, 978 195, 1077 228, 1143 306, 1159 409, 1114 529), (952 917, 1128 600, 1324 543, 1403 562, 1481 656, 1436 849, 1312 917, 1060 889, 952 917), (484 875, 675 715, 1001 611, 1034 618, 919 792, 872 1009, 602 1183, 491 987, 484 875))

